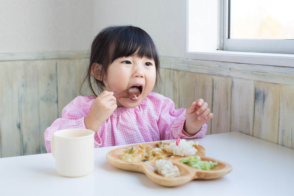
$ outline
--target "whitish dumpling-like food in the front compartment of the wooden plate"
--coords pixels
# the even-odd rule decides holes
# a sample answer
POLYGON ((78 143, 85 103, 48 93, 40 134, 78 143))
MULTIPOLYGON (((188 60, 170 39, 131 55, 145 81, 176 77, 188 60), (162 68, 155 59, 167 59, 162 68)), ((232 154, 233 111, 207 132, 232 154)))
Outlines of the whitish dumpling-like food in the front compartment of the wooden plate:
POLYGON ((177 177, 180 171, 176 165, 173 165, 169 160, 159 159, 155 161, 155 171, 165 177, 177 177))

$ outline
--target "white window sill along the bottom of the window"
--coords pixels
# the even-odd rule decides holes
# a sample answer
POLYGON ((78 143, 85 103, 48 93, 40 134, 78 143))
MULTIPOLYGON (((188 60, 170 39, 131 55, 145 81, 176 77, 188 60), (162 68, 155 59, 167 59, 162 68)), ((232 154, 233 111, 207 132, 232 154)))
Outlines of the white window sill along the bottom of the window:
POLYGON ((294 54, 233 52, 216 50, 209 52, 187 52, 184 58, 231 63, 294 67, 294 54))

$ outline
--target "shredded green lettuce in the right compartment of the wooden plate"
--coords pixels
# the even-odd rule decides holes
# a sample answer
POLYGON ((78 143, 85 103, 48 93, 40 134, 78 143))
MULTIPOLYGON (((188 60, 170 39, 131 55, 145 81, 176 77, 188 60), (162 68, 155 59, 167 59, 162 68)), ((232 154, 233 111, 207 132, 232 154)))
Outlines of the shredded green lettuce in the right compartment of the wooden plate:
POLYGON ((210 170, 215 165, 218 165, 218 162, 212 162, 212 161, 201 161, 200 156, 196 157, 189 157, 189 158, 181 158, 181 163, 185 163, 186 165, 189 165, 191 167, 194 167, 196 169, 200 170, 210 170))

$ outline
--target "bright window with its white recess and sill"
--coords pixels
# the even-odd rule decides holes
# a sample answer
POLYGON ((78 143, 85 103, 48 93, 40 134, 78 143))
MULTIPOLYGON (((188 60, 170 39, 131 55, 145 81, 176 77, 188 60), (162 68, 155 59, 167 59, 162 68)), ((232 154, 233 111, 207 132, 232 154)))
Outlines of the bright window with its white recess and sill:
POLYGON ((187 53, 184 58, 294 67, 294 1, 275 1, 274 6, 271 6, 275 10, 274 15, 265 15, 272 22, 267 24, 268 27, 273 27, 283 15, 282 18, 286 20, 280 21, 280 24, 288 24, 288 30, 283 30, 286 32, 284 35, 254 37, 244 32, 237 33, 237 27, 241 27, 240 31, 256 31, 256 25, 250 26, 250 22, 247 22, 248 27, 245 26, 246 22, 240 22, 243 20, 241 16, 243 14, 244 17, 251 17, 251 20, 256 19, 250 9, 256 10, 258 3, 264 2, 264 9, 271 14, 273 11, 268 10, 268 7, 273 0, 188 0, 187 53), (281 10, 279 14, 277 9, 281 10))

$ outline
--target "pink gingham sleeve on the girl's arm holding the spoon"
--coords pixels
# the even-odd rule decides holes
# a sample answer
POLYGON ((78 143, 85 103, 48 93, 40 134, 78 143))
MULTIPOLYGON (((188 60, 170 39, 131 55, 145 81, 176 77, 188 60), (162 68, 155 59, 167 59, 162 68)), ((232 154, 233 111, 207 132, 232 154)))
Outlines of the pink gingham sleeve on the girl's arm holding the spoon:
MULTIPOLYGON (((51 153, 51 138, 55 131, 71 128, 86 129, 84 119, 89 113, 94 100, 94 97, 78 96, 66 105, 62 111, 62 118, 56 119, 44 133, 45 146, 48 153, 51 153)), ((100 147, 102 142, 98 133, 94 135, 94 139, 94 147, 100 147)))

